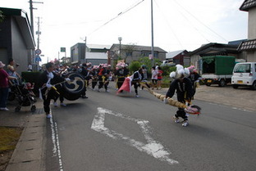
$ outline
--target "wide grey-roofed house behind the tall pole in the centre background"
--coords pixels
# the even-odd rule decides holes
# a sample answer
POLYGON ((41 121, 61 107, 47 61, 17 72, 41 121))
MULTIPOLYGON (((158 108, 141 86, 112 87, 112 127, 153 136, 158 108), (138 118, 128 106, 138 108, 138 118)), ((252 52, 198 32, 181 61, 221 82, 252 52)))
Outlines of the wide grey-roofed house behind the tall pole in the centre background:
MULTIPOLYGON (((166 59, 166 51, 162 50, 160 47, 153 47, 154 57, 163 61, 166 59)), ((109 57, 111 60, 124 60, 126 63, 131 61, 138 61, 140 57, 149 57, 151 54, 151 47, 138 46, 134 44, 113 44, 109 51, 109 57), (121 50, 121 56, 120 56, 121 50), (120 56, 120 57, 119 57, 120 56)))

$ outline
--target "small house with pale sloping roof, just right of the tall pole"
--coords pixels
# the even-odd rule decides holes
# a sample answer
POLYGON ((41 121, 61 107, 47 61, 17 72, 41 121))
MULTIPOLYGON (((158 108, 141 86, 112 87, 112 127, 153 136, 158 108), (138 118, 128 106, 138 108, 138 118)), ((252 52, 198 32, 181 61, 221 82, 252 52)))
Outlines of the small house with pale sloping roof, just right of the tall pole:
POLYGON ((174 64, 190 65, 190 56, 186 50, 167 52, 166 60, 174 64))

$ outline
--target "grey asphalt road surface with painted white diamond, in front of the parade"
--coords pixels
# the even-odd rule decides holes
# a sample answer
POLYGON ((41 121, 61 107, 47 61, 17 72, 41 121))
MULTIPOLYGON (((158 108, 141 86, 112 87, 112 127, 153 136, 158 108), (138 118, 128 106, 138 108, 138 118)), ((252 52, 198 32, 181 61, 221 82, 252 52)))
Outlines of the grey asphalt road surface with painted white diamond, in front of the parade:
POLYGON ((194 100, 202 114, 182 127, 172 121, 177 108, 146 90, 109 90, 52 107, 47 170, 255 170, 255 111, 194 100))

